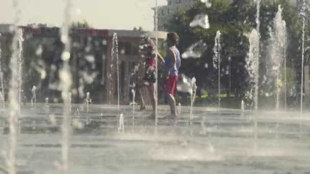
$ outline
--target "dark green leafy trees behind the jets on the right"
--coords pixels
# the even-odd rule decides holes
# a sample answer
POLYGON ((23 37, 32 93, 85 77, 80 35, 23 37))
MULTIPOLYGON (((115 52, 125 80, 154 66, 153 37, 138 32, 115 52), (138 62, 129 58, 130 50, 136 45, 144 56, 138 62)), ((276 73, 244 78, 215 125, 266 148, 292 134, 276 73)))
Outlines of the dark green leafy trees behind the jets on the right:
MULTIPOLYGON (((265 61, 268 57, 269 31, 273 27, 273 18, 278 10, 278 5, 283 8, 283 18, 287 23, 288 49, 287 66, 300 69, 300 38, 301 22, 297 8, 289 5, 287 0, 273 2, 263 1, 261 4, 261 70, 265 69, 265 61), (298 68, 299 67, 299 68, 298 68)), ((181 71, 186 74, 195 74, 198 86, 210 92, 217 86, 217 72, 213 68, 213 46, 216 32, 221 31, 221 89, 228 88, 228 65, 231 57, 231 87, 237 96, 243 97, 247 91, 248 74, 244 68, 249 42, 247 35, 256 28, 256 4, 252 0, 234 0, 232 3, 225 0, 212 0, 212 6, 207 8, 203 3, 197 2, 188 10, 182 10, 164 25, 168 31, 179 34, 180 52, 186 51, 194 43, 202 40, 206 44, 206 50, 200 59, 183 60, 181 71), (209 16, 210 28, 190 27, 189 24, 198 14, 209 16), (208 66, 206 66, 208 65, 208 66), (206 68, 207 67, 207 68, 206 68)), ((262 80, 262 79, 261 79, 262 80)), ((228 91, 228 90, 227 90, 228 91)))

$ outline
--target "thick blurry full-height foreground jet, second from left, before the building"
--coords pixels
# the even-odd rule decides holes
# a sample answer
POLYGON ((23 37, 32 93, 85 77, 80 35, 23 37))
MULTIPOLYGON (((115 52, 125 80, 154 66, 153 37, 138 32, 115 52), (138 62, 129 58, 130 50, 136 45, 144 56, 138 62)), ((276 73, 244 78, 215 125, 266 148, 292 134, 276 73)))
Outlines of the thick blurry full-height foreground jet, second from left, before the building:
POLYGON ((64 101, 63 123, 62 123, 62 169, 64 173, 69 173, 69 139, 70 139, 70 108, 69 108, 69 90, 72 84, 72 77, 70 73, 70 38, 69 25, 71 23, 71 1, 66 0, 64 9, 64 22, 61 28, 61 41, 64 44, 61 59, 63 61, 63 68, 59 73, 60 87, 62 90, 62 99, 64 101))

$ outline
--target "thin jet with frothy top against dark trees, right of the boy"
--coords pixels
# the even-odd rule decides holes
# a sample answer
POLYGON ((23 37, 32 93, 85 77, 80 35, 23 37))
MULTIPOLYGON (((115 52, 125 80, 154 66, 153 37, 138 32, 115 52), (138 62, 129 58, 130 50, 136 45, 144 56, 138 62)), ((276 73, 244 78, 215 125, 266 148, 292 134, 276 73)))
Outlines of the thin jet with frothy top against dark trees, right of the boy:
POLYGON ((218 110, 220 110, 220 101, 221 101, 221 42, 220 42, 220 38, 221 38, 221 32, 217 31, 216 32, 216 36, 215 36, 215 43, 214 43, 214 47, 213 47, 213 51, 214 51, 214 56, 213 56, 213 67, 215 69, 218 70, 218 110))

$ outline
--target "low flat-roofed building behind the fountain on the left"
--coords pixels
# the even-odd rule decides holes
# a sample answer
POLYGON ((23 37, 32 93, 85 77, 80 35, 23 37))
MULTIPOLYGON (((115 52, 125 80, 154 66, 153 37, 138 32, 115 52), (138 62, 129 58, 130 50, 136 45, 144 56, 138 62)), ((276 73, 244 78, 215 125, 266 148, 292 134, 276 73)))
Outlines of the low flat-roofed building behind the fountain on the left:
MULTIPOLYGON (((13 36, 10 31, 11 26, 0 24, 0 34, 2 35, 0 37, 2 48, 0 61, 5 76, 5 89, 9 88, 10 78, 8 65, 13 36)), ((35 85, 38 89, 37 99, 39 102, 43 102, 46 97, 52 101, 61 102, 59 71, 62 68, 63 44, 59 37, 60 28, 32 26, 19 26, 19 28, 23 30, 24 37, 22 74, 26 100, 31 97, 31 88, 35 85)), ((69 63, 74 102, 84 102, 86 93, 90 92, 92 101, 95 103, 117 103, 117 56, 116 54, 112 56, 114 33, 117 34, 118 39, 119 86, 122 104, 128 104, 131 100, 132 76, 143 71, 143 66, 138 66, 141 62, 139 55, 141 36, 151 38, 157 36, 160 42, 166 38, 165 32, 72 29, 70 31, 71 56, 69 63), (139 71, 134 73, 137 69, 139 71)), ((116 53, 116 43, 114 48, 116 53)), ((137 84, 136 81, 134 82, 137 84)))

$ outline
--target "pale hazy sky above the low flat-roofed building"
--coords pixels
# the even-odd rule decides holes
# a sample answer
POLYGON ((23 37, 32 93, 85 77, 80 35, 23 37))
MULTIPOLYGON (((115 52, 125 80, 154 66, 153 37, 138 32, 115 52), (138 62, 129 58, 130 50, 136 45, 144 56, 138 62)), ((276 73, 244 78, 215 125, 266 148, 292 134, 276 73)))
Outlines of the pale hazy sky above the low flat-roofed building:
MULTIPOLYGON (((0 23, 13 23, 15 10, 13 1, 0 1, 0 23)), ((72 0, 72 20, 86 20, 99 29, 132 30, 141 26, 153 30, 155 0, 72 0)), ((61 26, 65 0, 18 0, 20 25, 46 23, 61 26)), ((158 0, 166 5, 166 0, 158 0)))

